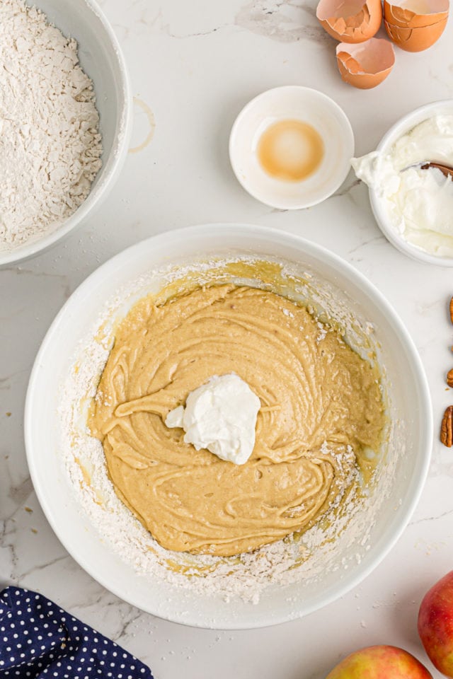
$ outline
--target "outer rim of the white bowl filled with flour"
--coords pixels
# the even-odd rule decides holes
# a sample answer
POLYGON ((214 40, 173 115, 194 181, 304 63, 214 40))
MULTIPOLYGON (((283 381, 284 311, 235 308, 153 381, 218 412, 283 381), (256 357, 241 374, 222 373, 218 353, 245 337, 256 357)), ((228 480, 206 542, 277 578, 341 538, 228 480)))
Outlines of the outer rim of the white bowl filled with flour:
POLYGON ((0 269, 11 264, 18 264, 18 262, 23 262, 23 260, 28 260, 30 257, 43 253, 45 250, 51 248, 52 245, 55 245, 58 240, 62 240, 71 233, 71 231, 75 231, 76 228, 81 226, 86 219, 86 216, 96 209, 107 195, 108 190, 110 190, 114 180, 119 175, 127 156, 132 133, 132 90, 129 72, 127 71, 127 65, 124 55, 122 54, 120 43, 101 7, 96 0, 85 0, 85 2, 88 9, 96 14, 103 25, 105 33, 107 33, 115 52, 118 70, 120 72, 119 87, 120 91, 123 93, 124 100, 122 101, 122 108, 115 129, 115 142, 108 156, 109 159, 114 156, 114 161, 108 172, 102 176, 101 181, 90 191, 84 202, 63 222, 63 224, 58 226, 55 231, 52 231, 42 238, 37 238, 29 244, 24 243, 23 245, 19 245, 18 248, 13 250, 0 251, 0 269))

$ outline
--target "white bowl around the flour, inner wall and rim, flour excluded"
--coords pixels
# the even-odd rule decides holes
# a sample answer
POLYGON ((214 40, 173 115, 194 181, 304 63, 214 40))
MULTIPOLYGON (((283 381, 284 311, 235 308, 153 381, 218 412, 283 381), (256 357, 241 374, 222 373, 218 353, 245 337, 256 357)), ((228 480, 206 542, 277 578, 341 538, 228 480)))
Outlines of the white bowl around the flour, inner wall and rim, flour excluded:
POLYGON ((47 250, 79 226, 108 195, 120 174, 132 129, 132 95, 125 61, 113 29, 94 0, 35 0, 47 20, 79 43, 79 61, 93 80, 100 115, 103 166, 86 200, 61 226, 17 248, 0 250, 0 267, 47 250))

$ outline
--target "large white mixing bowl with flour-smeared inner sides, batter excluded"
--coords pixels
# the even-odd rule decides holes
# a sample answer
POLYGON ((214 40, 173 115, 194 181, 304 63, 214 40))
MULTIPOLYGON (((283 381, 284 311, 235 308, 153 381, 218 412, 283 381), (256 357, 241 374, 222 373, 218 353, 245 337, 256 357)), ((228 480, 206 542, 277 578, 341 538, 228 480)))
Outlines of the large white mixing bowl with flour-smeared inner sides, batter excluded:
MULTIPOLYGON (((235 275, 231 282, 236 284, 263 284, 235 275)), ((128 248, 69 298, 35 361, 25 406, 25 444, 42 509, 93 578, 159 617, 238 629, 306 615, 343 595, 377 566, 406 527, 423 488, 432 414, 413 341, 365 277, 328 250, 289 233, 243 224, 205 225, 162 233, 128 248), (319 318, 325 314, 345 328, 350 346, 377 361, 389 416, 383 464, 372 491, 348 504, 344 522, 316 524, 304 533, 303 543, 279 540, 226 559, 170 552, 116 496, 102 444, 88 431, 87 410, 115 323, 134 301, 188 274, 203 284, 212 267, 253 258, 283 267, 288 295, 291 291, 316 308, 319 318), (294 284, 296 279, 300 284, 294 284)))

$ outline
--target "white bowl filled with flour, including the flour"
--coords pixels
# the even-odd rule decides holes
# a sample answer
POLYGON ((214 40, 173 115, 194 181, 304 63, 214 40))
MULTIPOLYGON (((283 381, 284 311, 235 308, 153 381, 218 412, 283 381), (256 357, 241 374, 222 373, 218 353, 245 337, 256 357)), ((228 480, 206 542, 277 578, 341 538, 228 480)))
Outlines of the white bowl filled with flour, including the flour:
POLYGON ((108 194, 127 153, 130 84, 92 0, 0 5, 0 266, 46 250, 108 194))

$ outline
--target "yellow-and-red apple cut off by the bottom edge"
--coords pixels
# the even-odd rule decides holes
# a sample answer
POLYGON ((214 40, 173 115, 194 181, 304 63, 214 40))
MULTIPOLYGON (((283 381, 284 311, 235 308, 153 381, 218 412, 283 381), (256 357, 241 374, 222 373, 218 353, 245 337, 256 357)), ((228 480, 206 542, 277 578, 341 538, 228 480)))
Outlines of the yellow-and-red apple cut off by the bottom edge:
POLYGON ((326 679, 432 679, 432 675, 403 649, 368 646, 342 660, 326 679))

